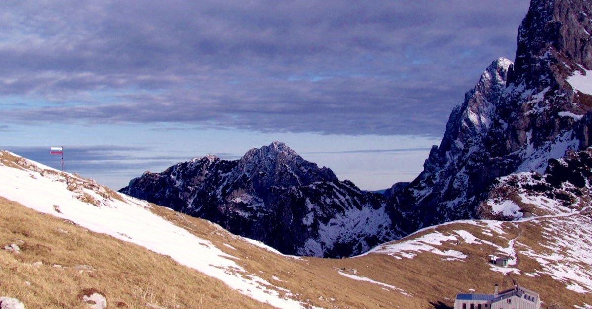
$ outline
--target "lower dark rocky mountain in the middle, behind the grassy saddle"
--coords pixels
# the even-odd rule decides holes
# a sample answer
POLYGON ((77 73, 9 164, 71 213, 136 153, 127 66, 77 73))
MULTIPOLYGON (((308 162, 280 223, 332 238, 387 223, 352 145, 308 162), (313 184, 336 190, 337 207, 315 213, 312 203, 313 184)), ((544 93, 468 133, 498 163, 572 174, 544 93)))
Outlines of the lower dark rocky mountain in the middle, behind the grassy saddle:
POLYGON ((380 194, 340 182, 283 143, 145 172, 125 194, 220 224, 282 253, 342 257, 400 237, 380 194))

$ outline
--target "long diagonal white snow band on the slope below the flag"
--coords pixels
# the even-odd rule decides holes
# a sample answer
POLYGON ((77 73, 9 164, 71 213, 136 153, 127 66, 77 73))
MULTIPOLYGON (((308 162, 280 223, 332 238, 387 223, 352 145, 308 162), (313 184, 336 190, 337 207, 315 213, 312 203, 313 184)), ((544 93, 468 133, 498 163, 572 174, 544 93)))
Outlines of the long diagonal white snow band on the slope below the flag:
POLYGON ((148 202, 118 194, 77 175, 2 151, 0 196, 168 255, 256 300, 282 308, 303 306, 289 298, 289 291, 282 291, 285 296, 280 297, 280 288, 249 274, 236 263, 236 257, 153 214, 148 202))

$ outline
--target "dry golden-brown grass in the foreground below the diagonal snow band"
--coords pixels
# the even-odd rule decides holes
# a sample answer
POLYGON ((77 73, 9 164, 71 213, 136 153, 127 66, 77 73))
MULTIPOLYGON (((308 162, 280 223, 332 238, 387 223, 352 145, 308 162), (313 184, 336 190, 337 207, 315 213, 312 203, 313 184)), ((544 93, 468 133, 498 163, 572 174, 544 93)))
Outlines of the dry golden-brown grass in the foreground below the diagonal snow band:
POLYGON ((0 197, 0 294, 27 308, 85 308, 99 291, 109 308, 265 308, 167 256, 40 214, 0 197), (36 266, 34 263, 43 262, 36 266), (53 265, 60 265, 53 266, 53 265), (178 307, 177 307, 178 306, 178 307))

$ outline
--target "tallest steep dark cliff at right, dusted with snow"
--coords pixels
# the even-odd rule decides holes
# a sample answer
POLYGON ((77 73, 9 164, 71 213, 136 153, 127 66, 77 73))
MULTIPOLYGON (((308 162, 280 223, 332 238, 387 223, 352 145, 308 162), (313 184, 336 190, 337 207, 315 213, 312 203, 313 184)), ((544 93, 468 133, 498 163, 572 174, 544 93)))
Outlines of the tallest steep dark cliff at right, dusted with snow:
POLYGON ((533 0, 518 32, 516 62, 498 59, 452 111, 424 171, 392 202, 413 231, 480 217, 497 178, 544 172, 552 158, 590 146, 590 95, 568 76, 592 69, 591 2, 533 0))

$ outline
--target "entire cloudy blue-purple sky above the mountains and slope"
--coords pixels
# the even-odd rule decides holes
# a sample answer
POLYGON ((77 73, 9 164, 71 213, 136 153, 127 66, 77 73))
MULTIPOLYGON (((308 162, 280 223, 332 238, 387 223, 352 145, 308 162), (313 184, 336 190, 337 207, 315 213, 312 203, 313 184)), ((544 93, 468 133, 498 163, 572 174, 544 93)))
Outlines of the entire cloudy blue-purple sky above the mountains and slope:
POLYGON ((282 141, 365 190, 412 181, 527 0, 0 2, 0 149, 120 189, 282 141))

